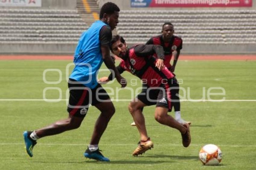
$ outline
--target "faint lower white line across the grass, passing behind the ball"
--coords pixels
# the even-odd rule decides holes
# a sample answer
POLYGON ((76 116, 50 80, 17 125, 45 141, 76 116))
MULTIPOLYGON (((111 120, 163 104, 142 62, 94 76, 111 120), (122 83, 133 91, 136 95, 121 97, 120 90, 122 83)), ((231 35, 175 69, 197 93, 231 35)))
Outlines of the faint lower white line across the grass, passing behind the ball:
MULTIPOLYGON (((0 145, 24 145, 24 143, 0 143, 0 145)), ((39 144, 39 145, 62 145, 62 146, 87 146, 88 144, 39 144)), ((137 144, 100 144, 110 146, 135 146, 137 144)), ((182 146, 182 144, 154 144, 156 146, 182 146)), ((205 144, 190 144, 190 146, 204 146, 205 144)), ((219 147, 256 147, 256 145, 218 145, 219 147)))

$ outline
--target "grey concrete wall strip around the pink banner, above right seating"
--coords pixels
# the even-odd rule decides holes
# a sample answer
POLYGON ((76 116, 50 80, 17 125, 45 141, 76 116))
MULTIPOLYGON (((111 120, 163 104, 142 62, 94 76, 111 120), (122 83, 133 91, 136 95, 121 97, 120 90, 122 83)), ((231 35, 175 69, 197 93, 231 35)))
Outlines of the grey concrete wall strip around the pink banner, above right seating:
POLYGON ((186 10, 201 10, 201 9, 205 9, 205 10, 208 10, 208 9, 220 9, 220 10, 225 10, 225 9, 255 9, 256 10, 256 0, 252 0, 252 7, 251 8, 131 8, 131 1, 130 0, 99 0, 99 6, 101 7, 103 4, 105 4, 106 2, 113 2, 115 3, 119 8, 120 10, 141 10, 141 9, 144 9, 144 10, 154 10, 154 9, 161 9, 161 10, 170 10, 170 9, 173 9, 173 10, 179 10, 179 9, 186 9, 186 10))

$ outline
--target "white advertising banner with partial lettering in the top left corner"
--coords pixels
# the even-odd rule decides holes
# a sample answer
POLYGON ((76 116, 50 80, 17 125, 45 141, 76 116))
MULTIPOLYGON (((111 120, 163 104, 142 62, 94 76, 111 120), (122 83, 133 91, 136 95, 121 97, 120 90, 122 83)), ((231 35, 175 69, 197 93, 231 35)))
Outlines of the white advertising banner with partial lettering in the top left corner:
POLYGON ((0 0, 0 7, 42 7, 41 0, 0 0))

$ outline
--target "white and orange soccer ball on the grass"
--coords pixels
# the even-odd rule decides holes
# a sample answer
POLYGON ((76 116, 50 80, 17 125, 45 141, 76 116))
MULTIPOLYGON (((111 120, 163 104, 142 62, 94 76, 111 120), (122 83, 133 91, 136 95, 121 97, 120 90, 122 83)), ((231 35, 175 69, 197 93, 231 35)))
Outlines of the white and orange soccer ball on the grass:
POLYGON ((216 145, 207 144, 201 148, 199 158, 204 165, 219 165, 222 152, 216 145))

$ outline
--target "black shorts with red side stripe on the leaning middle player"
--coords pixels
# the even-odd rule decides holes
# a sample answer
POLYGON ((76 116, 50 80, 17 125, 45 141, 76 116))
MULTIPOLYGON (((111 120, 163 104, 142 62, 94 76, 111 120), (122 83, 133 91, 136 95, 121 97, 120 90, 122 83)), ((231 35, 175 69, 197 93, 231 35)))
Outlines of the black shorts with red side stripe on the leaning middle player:
POLYGON ((156 107, 168 108, 168 111, 172 111, 172 96, 176 95, 176 90, 179 89, 179 84, 176 78, 167 80, 159 87, 147 87, 142 85, 142 92, 136 97, 142 101, 145 105, 156 107))

